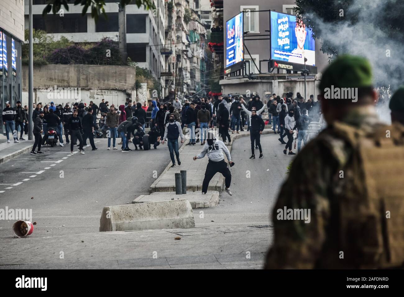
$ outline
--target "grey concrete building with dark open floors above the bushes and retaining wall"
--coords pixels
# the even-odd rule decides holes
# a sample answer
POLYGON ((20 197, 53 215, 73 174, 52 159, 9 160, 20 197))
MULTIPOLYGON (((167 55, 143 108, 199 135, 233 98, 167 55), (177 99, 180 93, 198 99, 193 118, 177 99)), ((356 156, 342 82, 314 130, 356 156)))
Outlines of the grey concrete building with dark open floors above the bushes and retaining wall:
MULTIPOLYGON (((126 50, 128 57, 141 68, 151 71, 162 86, 161 95, 166 96, 164 78, 160 73, 165 72, 166 63, 160 54, 164 46, 164 31, 166 25, 164 0, 153 0, 156 10, 144 10, 135 4, 125 7, 126 11, 126 50)), ((69 11, 62 8, 59 13, 42 17, 46 0, 33 0, 34 29, 41 29, 53 35, 57 40, 65 36, 73 42, 99 42, 102 38, 118 41, 118 1, 105 0, 107 20, 101 16, 95 23, 91 12, 81 15, 82 6, 69 4, 69 11)), ((25 1, 25 26, 28 27, 28 2, 25 1)))

